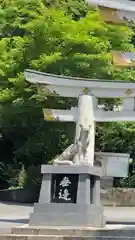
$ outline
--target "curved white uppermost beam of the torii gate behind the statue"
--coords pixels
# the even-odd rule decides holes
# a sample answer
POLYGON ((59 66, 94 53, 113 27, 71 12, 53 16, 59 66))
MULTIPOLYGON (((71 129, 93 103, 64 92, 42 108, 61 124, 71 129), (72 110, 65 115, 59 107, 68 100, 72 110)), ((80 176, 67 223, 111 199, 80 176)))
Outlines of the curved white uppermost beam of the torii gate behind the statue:
POLYGON ((135 97, 135 82, 65 77, 34 70, 26 70, 25 76, 28 82, 37 84, 48 95, 78 97, 87 93, 97 98, 135 97))

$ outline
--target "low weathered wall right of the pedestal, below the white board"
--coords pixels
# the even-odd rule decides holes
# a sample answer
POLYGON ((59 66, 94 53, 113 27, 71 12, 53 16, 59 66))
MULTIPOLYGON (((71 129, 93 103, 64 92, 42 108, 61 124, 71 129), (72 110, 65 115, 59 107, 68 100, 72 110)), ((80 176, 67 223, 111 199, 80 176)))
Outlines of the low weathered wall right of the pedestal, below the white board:
POLYGON ((106 206, 135 206, 135 188, 101 189, 101 202, 106 206))

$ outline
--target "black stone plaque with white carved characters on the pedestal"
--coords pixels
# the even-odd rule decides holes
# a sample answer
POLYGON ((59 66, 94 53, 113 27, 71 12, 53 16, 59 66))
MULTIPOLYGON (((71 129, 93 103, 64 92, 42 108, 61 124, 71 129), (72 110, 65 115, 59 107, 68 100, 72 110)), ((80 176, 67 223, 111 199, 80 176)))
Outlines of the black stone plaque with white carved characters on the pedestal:
POLYGON ((76 203, 78 174, 52 174, 51 202, 76 203))

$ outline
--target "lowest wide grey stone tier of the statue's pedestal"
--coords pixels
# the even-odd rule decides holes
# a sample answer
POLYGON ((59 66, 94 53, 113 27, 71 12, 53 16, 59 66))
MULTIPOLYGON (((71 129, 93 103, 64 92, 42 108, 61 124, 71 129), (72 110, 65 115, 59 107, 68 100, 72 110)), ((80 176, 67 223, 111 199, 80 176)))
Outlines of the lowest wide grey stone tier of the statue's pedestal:
MULTIPOLYGON (((64 204, 64 203, 63 203, 64 204)), ((81 207, 81 206, 80 206, 81 207)), ((76 213, 32 213, 29 218, 30 226, 89 226, 89 227, 104 227, 105 218, 102 212, 91 213, 90 209, 84 214, 76 213)))

